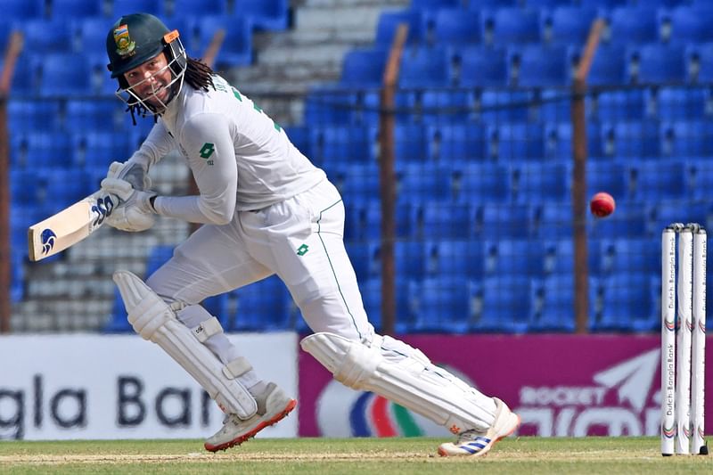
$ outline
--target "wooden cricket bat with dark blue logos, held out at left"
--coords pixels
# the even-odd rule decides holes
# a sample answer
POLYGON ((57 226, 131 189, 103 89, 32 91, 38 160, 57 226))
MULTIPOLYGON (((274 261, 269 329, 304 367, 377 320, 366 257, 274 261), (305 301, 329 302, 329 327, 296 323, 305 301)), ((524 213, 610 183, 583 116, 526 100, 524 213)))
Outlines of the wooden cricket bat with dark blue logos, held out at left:
POLYGON ((102 227, 104 219, 117 206, 117 196, 99 190, 44 221, 29 226, 29 260, 49 258, 82 241, 102 227))

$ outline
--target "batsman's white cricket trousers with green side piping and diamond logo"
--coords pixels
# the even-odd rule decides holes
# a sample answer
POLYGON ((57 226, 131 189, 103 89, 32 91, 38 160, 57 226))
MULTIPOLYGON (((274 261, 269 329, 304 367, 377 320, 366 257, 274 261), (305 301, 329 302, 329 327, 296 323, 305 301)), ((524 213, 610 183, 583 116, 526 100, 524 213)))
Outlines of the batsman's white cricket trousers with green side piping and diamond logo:
POLYGON ((147 283, 167 301, 194 305, 277 274, 313 332, 371 341, 343 235, 344 204, 325 179, 265 209, 236 211, 227 225, 201 226, 147 283))

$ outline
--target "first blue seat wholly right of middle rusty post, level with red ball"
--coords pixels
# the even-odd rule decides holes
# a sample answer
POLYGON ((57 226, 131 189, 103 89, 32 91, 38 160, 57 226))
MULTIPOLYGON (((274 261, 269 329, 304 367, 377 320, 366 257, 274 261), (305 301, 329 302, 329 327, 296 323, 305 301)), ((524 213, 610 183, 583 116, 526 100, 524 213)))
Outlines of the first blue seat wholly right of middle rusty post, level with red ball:
POLYGON ((472 213, 468 203, 424 201, 412 208, 411 230, 422 239, 466 239, 471 236, 472 213))

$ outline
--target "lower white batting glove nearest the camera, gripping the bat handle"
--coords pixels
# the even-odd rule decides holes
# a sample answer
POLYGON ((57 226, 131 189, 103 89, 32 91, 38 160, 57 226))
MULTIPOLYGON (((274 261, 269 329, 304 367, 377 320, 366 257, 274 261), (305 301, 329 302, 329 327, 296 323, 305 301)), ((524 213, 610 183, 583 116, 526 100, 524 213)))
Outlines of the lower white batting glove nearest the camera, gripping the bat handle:
POLYGON ((104 178, 102 191, 119 197, 119 206, 106 218, 111 227, 135 233, 149 229, 156 222, 156 210, 150 201, 156 192, 135 190, 130 183, 119 178, 104 178))

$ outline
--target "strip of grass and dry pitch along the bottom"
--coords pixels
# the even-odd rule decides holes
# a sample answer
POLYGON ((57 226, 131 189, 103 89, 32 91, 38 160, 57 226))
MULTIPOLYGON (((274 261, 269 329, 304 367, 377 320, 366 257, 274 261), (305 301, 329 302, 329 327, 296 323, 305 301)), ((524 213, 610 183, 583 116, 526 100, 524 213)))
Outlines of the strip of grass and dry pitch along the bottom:
POLYGON ((2 441, 3 474, 713 473, 713 455, 662 457, 659 438, 506 438, 481 459, 434 438, 258 438, 218 454, 200 440, 2 441))

